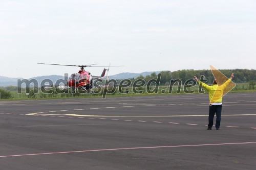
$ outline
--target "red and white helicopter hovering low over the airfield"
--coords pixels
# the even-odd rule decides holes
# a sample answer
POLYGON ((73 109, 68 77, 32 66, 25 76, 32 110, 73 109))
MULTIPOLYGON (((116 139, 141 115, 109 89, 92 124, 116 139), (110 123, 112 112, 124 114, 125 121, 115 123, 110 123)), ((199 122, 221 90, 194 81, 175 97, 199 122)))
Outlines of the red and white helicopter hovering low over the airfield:
POLYGON ((68 79, 67 86, 68 88, 75 88, 75 89, 83 89, 83 90, 90 90, 93 86, 93 81, 98 80, 108 80, 109 79, 109 70, 110 68, 104 68, 102 74, 100 76, 92 76, 91 72, 84 70, 86 67, 120 67, 122 65, 109 65, 109 66, 99 66, 97 64, 90 64, 90 65, 66 65, 66 64, 49 64, 49 63, 37 63, 37 64, 46 64, 46 65, 61 65, 61 66, 75 66, 80 67, 78 73, 73 73, 68 79), (104 78, 105 73, 106 78, 104 78))

